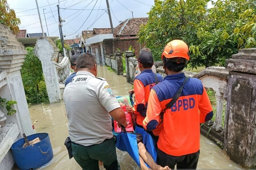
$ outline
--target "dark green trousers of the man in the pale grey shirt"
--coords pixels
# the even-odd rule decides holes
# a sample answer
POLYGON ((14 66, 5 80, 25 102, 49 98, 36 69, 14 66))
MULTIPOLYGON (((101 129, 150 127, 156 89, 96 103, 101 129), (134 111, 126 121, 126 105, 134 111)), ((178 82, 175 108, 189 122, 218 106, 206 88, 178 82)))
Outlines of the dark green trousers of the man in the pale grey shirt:
POLYGON ((118 170, 115 138, 101 144, 83 146, 72 142, 72 155, 84 170, 99 170, 99 160, 107 170, 118 170))

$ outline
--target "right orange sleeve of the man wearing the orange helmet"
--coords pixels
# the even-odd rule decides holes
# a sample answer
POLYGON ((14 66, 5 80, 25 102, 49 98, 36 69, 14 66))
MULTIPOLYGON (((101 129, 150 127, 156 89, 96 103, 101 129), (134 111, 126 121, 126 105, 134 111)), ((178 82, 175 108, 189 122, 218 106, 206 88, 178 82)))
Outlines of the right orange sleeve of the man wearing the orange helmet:
POLYGON ((212 105, 205 88, 202 94, 202 98, 198 103, 198 108, 200 111, 200 115, 199 115, 200 123, 204 123, 212 119, 212 116, 213 116, 212 105))

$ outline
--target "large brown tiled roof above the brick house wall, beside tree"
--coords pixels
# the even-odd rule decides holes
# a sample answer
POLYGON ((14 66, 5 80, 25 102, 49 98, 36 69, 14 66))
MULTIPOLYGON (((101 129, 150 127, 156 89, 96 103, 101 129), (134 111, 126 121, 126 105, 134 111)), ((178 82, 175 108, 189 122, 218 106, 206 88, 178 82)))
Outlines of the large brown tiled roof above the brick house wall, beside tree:
POLYGON ((138 35, 140 25, 145 25, 148 18, 129 18, 114 28, 115 36, 138 35))

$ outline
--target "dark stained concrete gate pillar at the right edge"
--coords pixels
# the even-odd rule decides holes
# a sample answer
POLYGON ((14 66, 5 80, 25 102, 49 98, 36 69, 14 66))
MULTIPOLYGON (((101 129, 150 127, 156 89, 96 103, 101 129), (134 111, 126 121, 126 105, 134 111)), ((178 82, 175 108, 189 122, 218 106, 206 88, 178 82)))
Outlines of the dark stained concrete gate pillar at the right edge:
POLYGON ((256 48, 226 60, 228 103, 224 151, 245 168, 256 168, 256 48))

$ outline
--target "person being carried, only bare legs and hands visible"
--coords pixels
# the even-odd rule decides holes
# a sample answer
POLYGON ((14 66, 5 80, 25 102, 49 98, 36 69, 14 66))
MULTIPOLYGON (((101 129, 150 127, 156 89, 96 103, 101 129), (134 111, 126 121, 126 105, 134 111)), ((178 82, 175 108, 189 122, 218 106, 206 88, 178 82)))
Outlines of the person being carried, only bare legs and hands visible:
MULTIPOLYGON (((119 103, 121 107, 125 106, 124 103, 119 103)), ((126 111, 132 114, 133 108, 131 106, 126 105, 126 111)), ((152 156, 148 153, 145 145, 142 143, 142 137, 139 136, 140 139, 137 138, 138 149, 139 149, 139 159, 140 159, 140 168, 142 170, 169 170, 168 166, 160 166, 157 165, 152 156), (148 168, 145 163, 148 164, 150 168, 148 168)))

